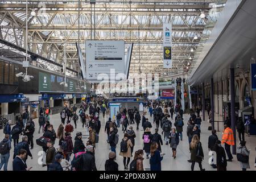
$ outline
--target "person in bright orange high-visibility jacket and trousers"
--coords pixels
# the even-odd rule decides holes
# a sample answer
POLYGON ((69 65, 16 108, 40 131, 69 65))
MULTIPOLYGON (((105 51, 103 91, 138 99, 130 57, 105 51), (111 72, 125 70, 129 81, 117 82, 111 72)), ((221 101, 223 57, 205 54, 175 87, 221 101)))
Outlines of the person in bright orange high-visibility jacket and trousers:
POLYGON ((233 130, 230 129, 229 125, 224 125, 224 133, 222 135, 222 140, 221 143, 224 144, 225 143, 225 151, 226 154, 228 155, 228 160, 229 162, 232 162, 233 156, 230 152, 230 146, 234 146, 234 134, 233 134, 233 130))

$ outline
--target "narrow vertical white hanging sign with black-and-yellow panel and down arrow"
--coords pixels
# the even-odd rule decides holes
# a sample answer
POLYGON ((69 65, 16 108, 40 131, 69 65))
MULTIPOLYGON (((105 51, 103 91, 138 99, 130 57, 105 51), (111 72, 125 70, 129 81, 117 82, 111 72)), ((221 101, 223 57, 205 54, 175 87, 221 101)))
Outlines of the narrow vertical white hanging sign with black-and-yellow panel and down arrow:
POLYGON ((163 23, 163 67, 172 68, 172 24, 163 23))

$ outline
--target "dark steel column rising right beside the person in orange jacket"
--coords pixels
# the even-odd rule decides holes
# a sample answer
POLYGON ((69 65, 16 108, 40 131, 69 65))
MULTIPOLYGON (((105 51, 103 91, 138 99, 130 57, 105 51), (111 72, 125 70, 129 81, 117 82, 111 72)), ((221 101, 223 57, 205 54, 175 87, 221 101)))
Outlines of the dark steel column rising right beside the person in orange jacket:
POLYGON ((232 146, 232 154, 236 155, 236 116, 235 116, 235 93, 234 93, 234 68, 230 68, 230 97, 231 97, 231 127, 234 135, 234 146, 232 146))

